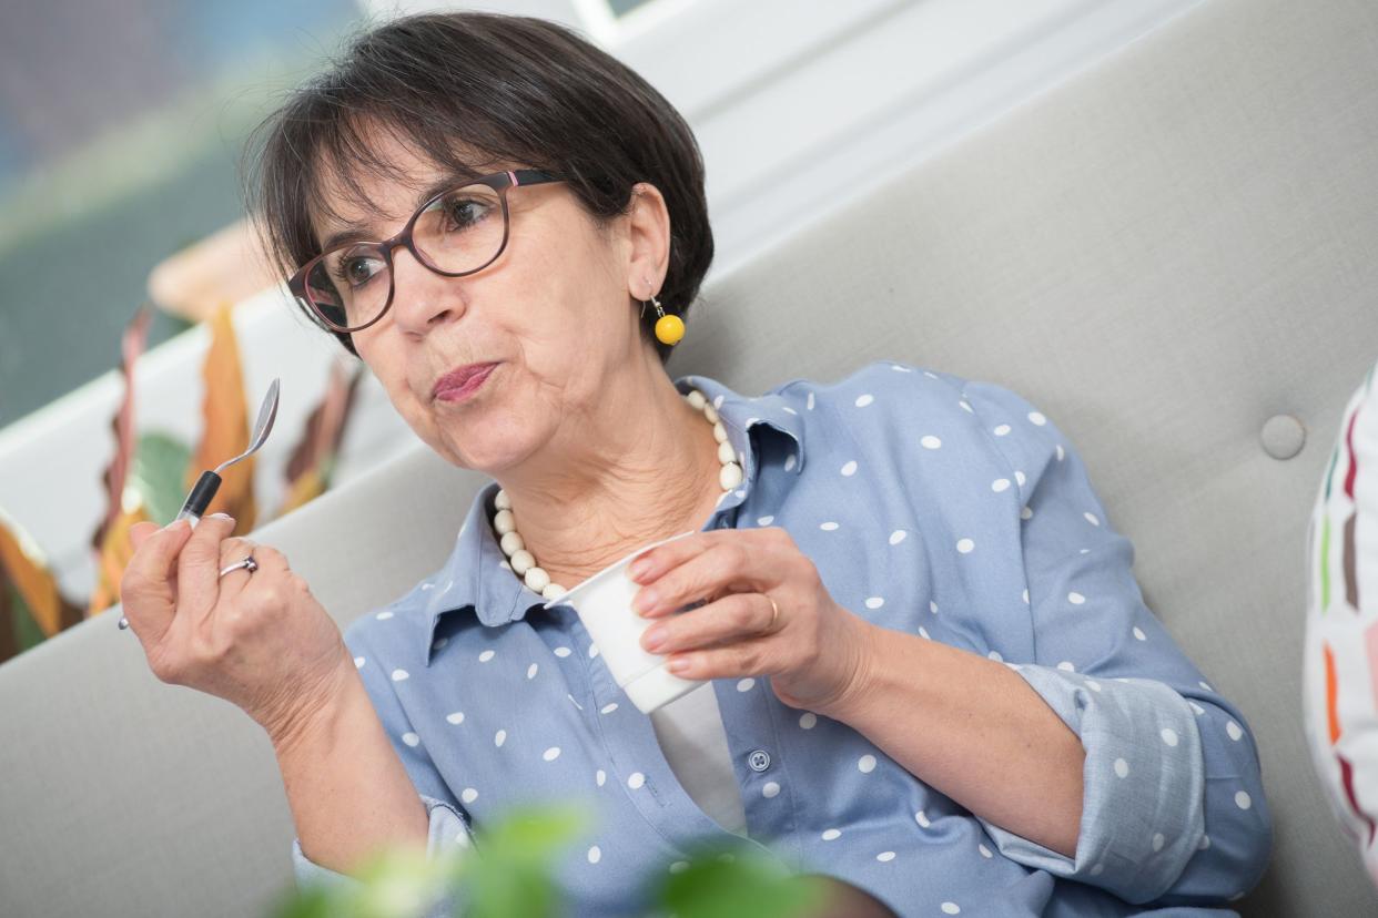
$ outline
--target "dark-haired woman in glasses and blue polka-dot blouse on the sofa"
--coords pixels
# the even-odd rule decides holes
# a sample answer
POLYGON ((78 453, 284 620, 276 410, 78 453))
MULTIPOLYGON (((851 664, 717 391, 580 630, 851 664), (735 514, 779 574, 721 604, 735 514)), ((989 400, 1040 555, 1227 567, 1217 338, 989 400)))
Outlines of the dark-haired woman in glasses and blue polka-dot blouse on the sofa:
POLYGON ((759 398, 666 374, 703 168, 615 59, 533 19, 393 22, 269 124, 262 190, 307 315, 495 479, 343 641, 233 523, 138 535, 127 615, 161 679, 269 732, 302 875, 558 797, 599 816, 559 870, 579 914, 641 911, 648 871, 733 834, 901 915, 1221 914, 1257 881, 1253 736, 1046 417, 900 363, 759 398), (686 530, 638 611, 712 681, 648 718, 540 606, 686 530))

